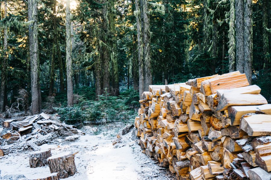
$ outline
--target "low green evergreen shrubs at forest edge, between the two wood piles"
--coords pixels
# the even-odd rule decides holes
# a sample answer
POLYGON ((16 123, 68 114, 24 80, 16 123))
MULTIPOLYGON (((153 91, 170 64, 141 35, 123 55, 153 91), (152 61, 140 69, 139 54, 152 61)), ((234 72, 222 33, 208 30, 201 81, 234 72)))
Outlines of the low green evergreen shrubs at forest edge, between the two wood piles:
POLYGON ((67 124, 101 123, 132 121, 139 107, 139 95, 133 89, 121 92, 121 95, 99 96, 98 101, 86 100, 73 107, 55 108, 61 120, 67 124))

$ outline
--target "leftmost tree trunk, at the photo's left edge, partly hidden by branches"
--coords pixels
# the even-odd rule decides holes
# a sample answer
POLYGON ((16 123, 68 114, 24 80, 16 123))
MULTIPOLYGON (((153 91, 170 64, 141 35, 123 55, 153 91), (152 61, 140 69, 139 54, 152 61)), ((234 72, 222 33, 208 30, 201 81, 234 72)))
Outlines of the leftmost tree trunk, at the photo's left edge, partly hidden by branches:
MULTIPOLYGON (((7 16, 7 0, 4 2, 4 17, 7 16)), ((2 62, 1 87, 0 87, 0 112, 5 111, 6 83, 7 83, 7 64, 8 64, 8 27, 4 29, 4 58, 2 62)))

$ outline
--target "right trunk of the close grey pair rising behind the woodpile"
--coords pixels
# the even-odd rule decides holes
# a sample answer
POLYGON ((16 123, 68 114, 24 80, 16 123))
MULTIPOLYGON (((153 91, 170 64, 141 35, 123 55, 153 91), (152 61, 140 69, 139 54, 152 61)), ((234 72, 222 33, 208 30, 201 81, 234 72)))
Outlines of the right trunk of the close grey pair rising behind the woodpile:
POLYGON ((252 44, 252 0, 245 0, 245 33, 244 33, 244 73, 248 78, 249 84, 252 81, 252 58, 253 58, 253 44, 252 44))

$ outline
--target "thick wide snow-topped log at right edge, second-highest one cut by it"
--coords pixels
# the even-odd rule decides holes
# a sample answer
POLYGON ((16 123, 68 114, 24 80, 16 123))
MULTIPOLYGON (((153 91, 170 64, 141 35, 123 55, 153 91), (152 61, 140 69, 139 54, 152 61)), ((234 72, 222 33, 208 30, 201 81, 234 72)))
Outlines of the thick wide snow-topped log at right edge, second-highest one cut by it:
POLYGON ((241 119, 240 128, 249 136, 265 136, 271 134, 271 115, 248 114, 241 119))

